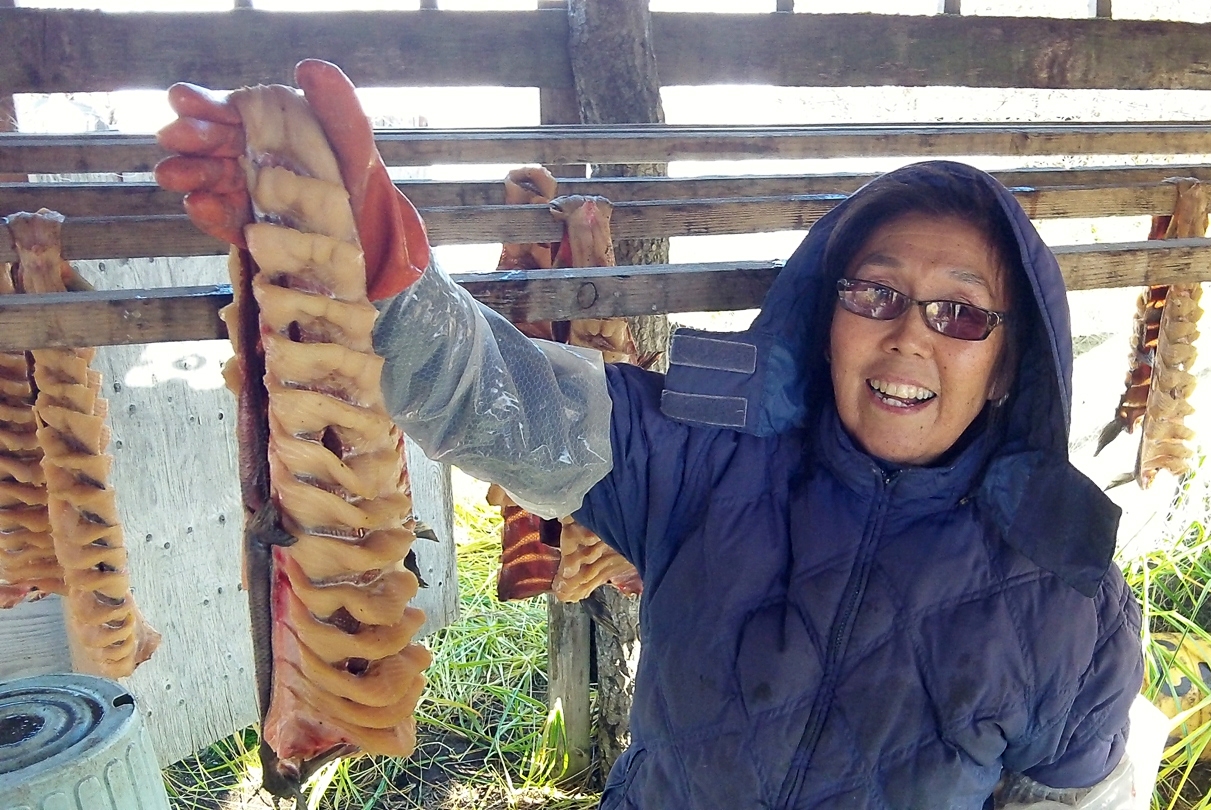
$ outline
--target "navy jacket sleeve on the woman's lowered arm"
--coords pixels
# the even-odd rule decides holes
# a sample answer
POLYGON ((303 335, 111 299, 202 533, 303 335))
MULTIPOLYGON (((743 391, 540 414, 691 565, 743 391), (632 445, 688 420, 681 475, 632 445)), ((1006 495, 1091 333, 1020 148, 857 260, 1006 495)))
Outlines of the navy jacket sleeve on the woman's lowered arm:
MULTIPOLYGON (((1010 746, 1005 768, 1051 788, 1084 788, 1107 779, 1123 757, 1127 713, 1143 680, 1140 605, 1112 565, 1097 594, 1097 640, 1066 711, 1010 746)), ((1041 719, 1041 718, 1040 718, 1041 719)))

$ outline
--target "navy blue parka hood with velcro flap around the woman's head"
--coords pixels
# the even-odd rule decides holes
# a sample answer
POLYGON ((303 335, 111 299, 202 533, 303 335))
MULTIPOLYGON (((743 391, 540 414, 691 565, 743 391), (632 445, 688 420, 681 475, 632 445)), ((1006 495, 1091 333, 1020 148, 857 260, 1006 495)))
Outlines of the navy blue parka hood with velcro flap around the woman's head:
MULTIPOLYGON (((1017 241, 1028 282, 1022 291, 1031 293, 1029 301, 1015 304, 1012 316, 1028 327, 1020 334, 1021 356, 1004 413, 991 420, 1003 433, 982 476, 981 505, 1006 542, 1091 596, 1113 556, 1119 510, 1068 463, 1072 332, 1060 265, 1009 189, 971 166, 914 163, 873 183, 911 185, 940 177, 978 184, 995 196, 1017 241)), ((675 332, 661 395, 666 417, 775 436, 805 427, 831 407, 825 356, 836 272, 825 254, 844 213, 869 188, 811 226, 748 329, 675 332)))

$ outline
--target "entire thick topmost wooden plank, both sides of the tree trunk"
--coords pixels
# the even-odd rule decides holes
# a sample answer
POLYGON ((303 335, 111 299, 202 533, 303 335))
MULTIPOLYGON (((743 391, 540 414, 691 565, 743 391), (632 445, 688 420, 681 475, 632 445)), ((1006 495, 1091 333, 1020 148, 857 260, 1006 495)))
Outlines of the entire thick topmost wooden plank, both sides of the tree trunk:
MULTIPOLYGON (((652 17, 665 85, 1211 88, 1205 24, 958 15, 652 17)), ((314 56, 337 62, 363 86, 564 87, 567 39, 567 16, 552 10, 6 8, 0 75, 11 92, 167 87, 179 80, 236 87, 289 81, 293 64, 314 56)))

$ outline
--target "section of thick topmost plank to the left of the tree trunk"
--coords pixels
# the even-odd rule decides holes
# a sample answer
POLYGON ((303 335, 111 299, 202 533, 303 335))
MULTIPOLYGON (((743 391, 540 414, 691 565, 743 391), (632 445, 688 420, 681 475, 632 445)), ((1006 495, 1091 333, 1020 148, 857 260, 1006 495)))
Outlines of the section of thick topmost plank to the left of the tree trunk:
POLYGON ((340 64, 362 87, 569 81, 558 12, 222 13, 0 10, 0 76, 11 92, 65 93, 293 84, 294 64, 340 64), (547 47, 535 48, 535 42, 547 47))

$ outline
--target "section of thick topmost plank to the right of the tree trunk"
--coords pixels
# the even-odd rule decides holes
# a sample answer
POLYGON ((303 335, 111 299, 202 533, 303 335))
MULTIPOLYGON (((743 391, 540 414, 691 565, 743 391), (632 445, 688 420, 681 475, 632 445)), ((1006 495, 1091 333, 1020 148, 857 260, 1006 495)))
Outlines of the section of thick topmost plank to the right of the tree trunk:
POLYGON ((957 4, 936 17, 724 17, 653 15, 665 85, 1211 87, 1207 25, 962 17, 957 4))

